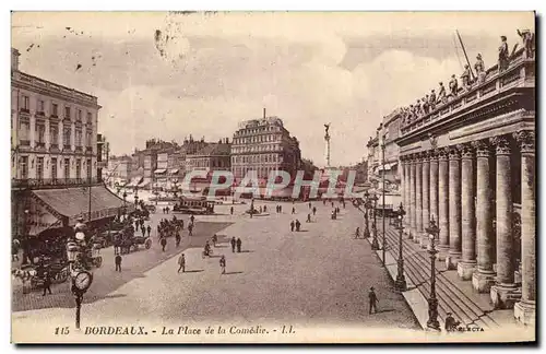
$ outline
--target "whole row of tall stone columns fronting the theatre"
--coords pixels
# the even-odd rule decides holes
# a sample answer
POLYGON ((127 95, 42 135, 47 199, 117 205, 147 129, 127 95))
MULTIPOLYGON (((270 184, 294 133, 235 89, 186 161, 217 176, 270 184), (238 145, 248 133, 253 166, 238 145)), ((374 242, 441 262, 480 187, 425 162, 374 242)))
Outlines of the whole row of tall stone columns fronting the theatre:
POLYGON ((536 297, 534 131, 402 155, 402 198, 410 238, 426 247, 426 228, 434 217, 440 228, 439 259, 447 268, 456 270, 462 280, 472 280, 476 291, 490 293, 497 307, 512 307, 520 299, 512 232, 511 168, 517 153, 521 154, 522 220, 522 287, 517 307, 529 309, 536 297))

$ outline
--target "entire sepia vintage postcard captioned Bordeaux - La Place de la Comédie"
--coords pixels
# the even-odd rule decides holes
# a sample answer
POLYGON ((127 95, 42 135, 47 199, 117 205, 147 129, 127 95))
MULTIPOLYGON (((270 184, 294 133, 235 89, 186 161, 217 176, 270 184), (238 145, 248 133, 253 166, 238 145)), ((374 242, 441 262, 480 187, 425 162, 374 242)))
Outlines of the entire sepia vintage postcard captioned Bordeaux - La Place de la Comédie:
POLYGON ((11 20, 12 342, 536 340, 535 13, 11 20))

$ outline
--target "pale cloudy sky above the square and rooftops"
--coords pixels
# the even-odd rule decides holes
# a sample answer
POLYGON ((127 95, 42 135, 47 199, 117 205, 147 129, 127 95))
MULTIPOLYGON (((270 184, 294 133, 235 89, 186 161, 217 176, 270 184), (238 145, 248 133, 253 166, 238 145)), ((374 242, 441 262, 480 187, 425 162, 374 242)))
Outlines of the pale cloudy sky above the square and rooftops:
POLYGON ((366 156, 382 118, 462 73, 500 36, 534 30, 530 12, 14 12, 23 72, 96 95, 111 153, 151 138, 232 138, 238 122, 283 119, 324 165, 366 156))

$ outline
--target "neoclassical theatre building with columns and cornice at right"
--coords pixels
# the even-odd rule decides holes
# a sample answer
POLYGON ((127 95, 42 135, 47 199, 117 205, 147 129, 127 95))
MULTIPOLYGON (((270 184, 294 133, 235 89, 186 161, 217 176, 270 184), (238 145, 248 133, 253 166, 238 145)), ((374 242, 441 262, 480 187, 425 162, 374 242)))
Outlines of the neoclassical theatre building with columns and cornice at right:
POLYGON ((423 247, 435 219, 440 260, 534 322, 535 61, 517 51, 427 114, 403 119, 405 229, 423 247))

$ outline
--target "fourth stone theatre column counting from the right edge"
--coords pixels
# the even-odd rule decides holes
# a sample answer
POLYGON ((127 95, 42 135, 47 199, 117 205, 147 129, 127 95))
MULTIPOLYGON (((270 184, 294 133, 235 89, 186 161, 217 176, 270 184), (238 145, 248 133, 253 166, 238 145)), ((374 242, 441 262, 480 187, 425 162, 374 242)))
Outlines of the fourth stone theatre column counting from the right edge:
POLYGON ((456 267, 462 280, 472 280, 476 268, 476 227, 474 223, 474 149, 471 144, 459 146, 461 158, 461 212, 462 212, 462 260, 456 267))

